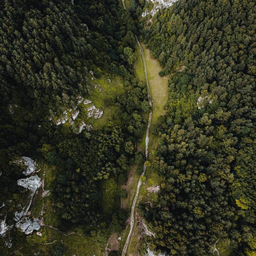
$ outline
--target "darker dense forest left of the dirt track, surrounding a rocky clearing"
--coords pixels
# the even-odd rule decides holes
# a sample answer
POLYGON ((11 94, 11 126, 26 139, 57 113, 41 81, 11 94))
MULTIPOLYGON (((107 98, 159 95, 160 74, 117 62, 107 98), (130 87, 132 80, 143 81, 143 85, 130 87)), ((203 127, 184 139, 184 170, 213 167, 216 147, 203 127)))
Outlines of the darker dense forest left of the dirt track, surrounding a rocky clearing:
MULTIPOLYGON (((118 4, 117 0, 0 3, 0 204, 6 205, 1 219, 6 216, 7 225, 15 224, 13 212, 24 200, 17 186, 23 175, 13 163, 21 156, 55 166, 53 208, 60 215, 57 228, 62 231, 100 223, 120 229, 127 219, 127 212, 116 205, 103 213, 101 204, 104 180, 122 185, 128 165, 145 161, 135 150, 135 141, 146 128, 140 114, 147 99, 146 85, 137 83, 132 68, 137 28, 118 4), (105 100, 118 109, 108 127, 76 135, 70 125, 51 120, 63 109, 74 109, 81 95, 92 94, 91 74, 120 77, 125 93, 105 100)), ((0 246, 5 248, 4 239, 0 246)))

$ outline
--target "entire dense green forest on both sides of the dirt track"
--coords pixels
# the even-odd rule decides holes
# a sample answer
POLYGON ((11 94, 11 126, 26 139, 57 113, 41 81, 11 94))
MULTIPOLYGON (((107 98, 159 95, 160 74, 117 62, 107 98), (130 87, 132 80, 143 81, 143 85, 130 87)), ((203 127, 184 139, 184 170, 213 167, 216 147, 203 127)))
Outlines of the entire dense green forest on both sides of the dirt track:
MULTIPOLYGON (((60 232, 125 228, 129 213, 119 200, 129 191, 121 187, 129 166, 140 172, 146 161, 136 145, 151 109, 146 83, 133 69, 137 35, 163 68, 159 76, 168 77, 166 114, 150 128, 157 150, 146 162, 164 182, 152 206, 138 203, 155 234, 146 238, 150 250, 212 255, 221 241, 227 256, 255 256, 256 3, 178 0, 153 17, 141 16, 152 9, 150 1, 130 0, 128 10, 121 4, 0 3, 0 220, 15 224, 24 195, 14 161, 29 156, 54 170, 52 209, 60 232), (103 77, 120 78, 124 88, 104 99, 116 109, 111 122, 79 134, 79 127, 54 123, 103 77), (118 191, 109 208, 108 188, 118 191)), ((92 237, 95 230, 86 232, 92 237)), ((11 235, 13 243, 28 242, 24 234, 11 235)), ((6 248, 0 240, 0 250, 6 248)), ((64 253, 62 245, 51 250, 64 253)))

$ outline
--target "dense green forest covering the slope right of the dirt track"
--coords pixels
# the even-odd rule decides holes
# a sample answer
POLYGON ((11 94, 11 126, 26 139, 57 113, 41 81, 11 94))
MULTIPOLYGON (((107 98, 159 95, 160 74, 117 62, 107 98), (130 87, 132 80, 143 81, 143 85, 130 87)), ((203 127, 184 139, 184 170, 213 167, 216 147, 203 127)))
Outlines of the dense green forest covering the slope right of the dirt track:
POLYGON ((231 255, 256 253, 255 11, 254 1, 179 0, 138 20, 170 75, 152 161, 165 182, 155 207, 141 207, 156 250, 207 255, 220 238, 231 255))

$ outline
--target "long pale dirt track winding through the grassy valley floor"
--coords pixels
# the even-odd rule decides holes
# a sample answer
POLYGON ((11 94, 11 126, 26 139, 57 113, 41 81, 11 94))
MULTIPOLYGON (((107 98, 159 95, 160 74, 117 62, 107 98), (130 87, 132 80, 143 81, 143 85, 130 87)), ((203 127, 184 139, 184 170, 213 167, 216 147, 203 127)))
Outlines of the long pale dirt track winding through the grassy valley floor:
MULTIPOLYGON (((124 0, 122 0, 122 1, 123 1, 123 4, 124 4, 124 0)), ((124 6, 124 9, 125 9, 125 6, 124 6)), ((141 48, 141 46, 140 46, 140 42, 139 42, 137 36, 135 36, 135 37, 136 37, 137 43, 138 43, 139 48, 140 48, 140 54, 141 54, 142 59, 143 59, 144 72, 145 72, 146 82, 147 82, 147 88, 148 88, 148 102, 149 102, 150 106, 152 106, 152 103, 151 103, 151 96, 150 96, 150 91, 149 91, 149 84, 148 84, 148 76, 147 76, 146 62, 145 62, 143 50, 142 50, 142 48, 141 48)), ((146 150, 145 150, 145 151, 146 151, 146 153, 145 153, 145 155, 146 155, 146 160, 148 160, 148 141, 149 141, 149 139, 148 139, 148 132, 149 132, 149 128, 150 128, 151 116, 152 116, 152 112, 150 112, 150 114, 149 114, 149 118, 148 118, 148 128, 147 128, 147 134, 146 134, 146 140, 145 140, 145 141, 146 141, 146 150)), ((147 166, 144 165, 144 166, 143 166, 143 172, 142 172, 142 174, 141 174, 140 177, 142 177, 142 176, 144 175, 144 173, 145 173, 145 171, 146 171, 146 168, 147 168, 147 166)), ((128 236, 127 236, 127 239, 126 239, 126 241, 125 241, 125 244, 124 244, 124 249, 123 249, 123 252, 122 252, 122 256, 125 256, 126 251, 127 251, 127 246, 128 246, 128 244, 129 244, 130 238, 131 238, 131 236, 132 236, 132 231, 133 231, 133 226, 134 226, 134 207, 135 207, 135 204, 136 204, 136 201, 137 201, 139 192, 140 192, 140 185, 141 185, 141 180, 139 180, 139 183, 138 183, 138 186, 137 186, 137 190, 136 190, 136 194, 135 194, 135 197, 134 197, 134 200, 133 200, 133 203, 132 203, 131 220, 130 220, 130 226, 131 226, 131 228, 130 228, 130 232, 129 232, 128 236)))

